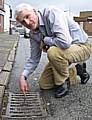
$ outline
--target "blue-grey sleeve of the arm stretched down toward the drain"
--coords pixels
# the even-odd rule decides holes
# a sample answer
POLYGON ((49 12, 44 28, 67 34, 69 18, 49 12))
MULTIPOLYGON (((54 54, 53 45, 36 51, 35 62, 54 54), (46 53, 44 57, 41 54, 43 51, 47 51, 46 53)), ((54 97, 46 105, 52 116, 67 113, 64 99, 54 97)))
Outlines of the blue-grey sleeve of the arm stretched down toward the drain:
POLYGON ((29 74, 34 72, 41 57, 41 49, 39 48, 39 42, 37 42, 34 39, 31 39, 30 47, 31 47, 31 51, 30 51, 31 56, 27 60, 24 66, 24 71, 22 73, 22 75, 24 75, 25 77, 28 77, 29 74))

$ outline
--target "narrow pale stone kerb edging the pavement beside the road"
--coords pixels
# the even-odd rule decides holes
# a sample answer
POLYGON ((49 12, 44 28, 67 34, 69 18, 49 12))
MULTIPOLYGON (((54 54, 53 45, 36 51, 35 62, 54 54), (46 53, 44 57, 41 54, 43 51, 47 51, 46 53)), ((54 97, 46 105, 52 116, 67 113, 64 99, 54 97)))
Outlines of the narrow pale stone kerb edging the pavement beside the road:
POLYGON ((19 41, 19 35, 16 34, 15 42, 14 42, 13 48, 10 50, 8 59, 5 63, 5 65, 3 66, 3 68, 0 69, 0 111, 1 111, 1 107, 2 107, 4 91, 9 82, 9 76, 10 76, 11 70, 13 68, 13 63, 15 60, 16 50, 17 50, 17 46, 18 46, 18 41, 19 41))

